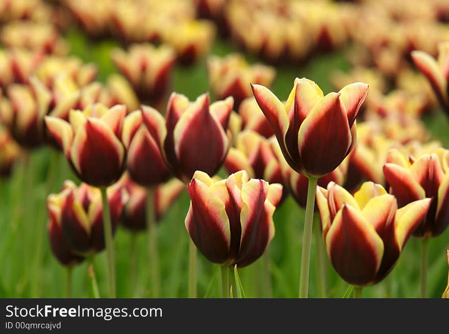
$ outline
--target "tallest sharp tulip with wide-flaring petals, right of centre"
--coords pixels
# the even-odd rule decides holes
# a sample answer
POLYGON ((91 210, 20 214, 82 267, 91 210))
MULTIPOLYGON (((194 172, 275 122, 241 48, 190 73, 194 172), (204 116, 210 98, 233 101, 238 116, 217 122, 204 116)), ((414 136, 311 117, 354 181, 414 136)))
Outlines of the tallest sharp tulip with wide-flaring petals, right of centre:
POLYGON ((356 116, 368 85, 354 83, 324 96, 308 79, 295 79, 285 104, 266 87, 252 85, 254 97, 296 172, 321 177, 337 168, 356 144, 356 116))

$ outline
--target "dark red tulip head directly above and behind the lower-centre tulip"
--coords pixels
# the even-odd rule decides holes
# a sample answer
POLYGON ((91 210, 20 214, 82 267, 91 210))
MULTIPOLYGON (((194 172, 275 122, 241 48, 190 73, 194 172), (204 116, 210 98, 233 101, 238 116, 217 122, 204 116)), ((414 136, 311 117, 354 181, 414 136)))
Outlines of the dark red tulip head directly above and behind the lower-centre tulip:
POLYGON ((209 105, 207 93, 195 102, 172 93, 165 121, 157 110, 146 106, 142 106, 142 116, 169 169, 188 182, 195 171, 213 176, 220 169, 231 141, 228 126, 232 108, 232 97, 209 105))

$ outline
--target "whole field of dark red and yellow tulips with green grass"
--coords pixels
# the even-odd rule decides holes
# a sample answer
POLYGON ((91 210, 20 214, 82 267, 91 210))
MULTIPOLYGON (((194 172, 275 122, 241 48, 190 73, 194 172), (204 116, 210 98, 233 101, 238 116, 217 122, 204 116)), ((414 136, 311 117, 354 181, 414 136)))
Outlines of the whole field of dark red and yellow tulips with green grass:
POLYGON ((400 3, 0 0, 0 297, 449 298, 449 6, 400 3))

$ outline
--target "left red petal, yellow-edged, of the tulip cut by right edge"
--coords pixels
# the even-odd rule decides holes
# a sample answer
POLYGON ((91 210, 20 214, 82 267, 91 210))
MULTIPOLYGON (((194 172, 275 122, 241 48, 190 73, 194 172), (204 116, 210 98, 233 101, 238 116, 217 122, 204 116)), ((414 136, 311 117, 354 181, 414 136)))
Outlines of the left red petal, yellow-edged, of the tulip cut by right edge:
POLYGON ((394 163, 384 165, 385 179, 396 196, 398 206, 402 207, 413 201, 426 198, 425 190, 413 178, 409 170, 394 163))

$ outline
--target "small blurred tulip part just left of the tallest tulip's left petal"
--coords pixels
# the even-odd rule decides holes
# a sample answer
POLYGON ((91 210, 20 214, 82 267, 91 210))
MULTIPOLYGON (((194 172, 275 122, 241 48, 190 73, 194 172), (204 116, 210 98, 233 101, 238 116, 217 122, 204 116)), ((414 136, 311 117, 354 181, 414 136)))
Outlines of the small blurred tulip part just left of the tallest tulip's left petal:
POLYGON ((238 112, 242 117, 242 129, 256 131, 265 138, 275 134, 254 98, 243 100, 238 112))

